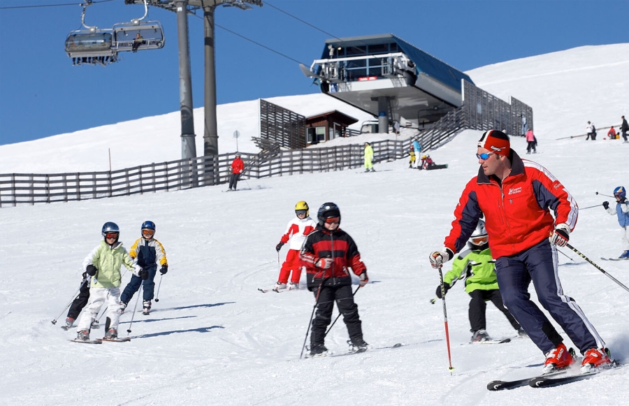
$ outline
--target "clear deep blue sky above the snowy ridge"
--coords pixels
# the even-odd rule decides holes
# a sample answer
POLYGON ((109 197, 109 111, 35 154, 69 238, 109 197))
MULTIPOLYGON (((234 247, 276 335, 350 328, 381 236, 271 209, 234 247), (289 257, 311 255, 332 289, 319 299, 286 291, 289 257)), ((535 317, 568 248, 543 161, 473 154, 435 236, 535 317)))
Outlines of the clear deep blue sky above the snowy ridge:
MULTIPOLYGON (((174 13, 150 8, 149 19, 164 26, 163 49, 124 52, 105 68, 72 66, 64 40, 81 27, 80 6, 7 9, 66 3, 0 0, 0 144, 179 110, 174 13)), ((396 34, 462 71, 581 45, 629 42, 626 0, 270 0, 246 11, 218 8, 216 24, 310 66, 331 36, 271 5, 335 37, 396 34)), ((90 6, 86 23, 104 29, 142 15, 143 6, 115 0, 90 6)), ((189 17, 189 32, 198 108, 203 20, 189 17)), ((216 58, 218 103, 319 92, 296 61, 219 27, 216 58)), ((203 136, 203 128, 195 133, 203 136)))

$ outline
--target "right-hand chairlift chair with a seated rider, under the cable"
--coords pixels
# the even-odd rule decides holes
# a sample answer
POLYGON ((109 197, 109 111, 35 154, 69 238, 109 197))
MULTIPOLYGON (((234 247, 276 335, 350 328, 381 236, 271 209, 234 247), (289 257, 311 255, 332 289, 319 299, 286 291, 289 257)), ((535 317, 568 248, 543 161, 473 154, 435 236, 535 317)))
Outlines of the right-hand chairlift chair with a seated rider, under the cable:
POLYGON ((159 50, 164 48, 164 29, 159 21, 142 22, 133 20, 129 23, 114 24, 113 28, 113 52, 133 50, 133 39, 136 34, 143 38, 138 50, 159 50))

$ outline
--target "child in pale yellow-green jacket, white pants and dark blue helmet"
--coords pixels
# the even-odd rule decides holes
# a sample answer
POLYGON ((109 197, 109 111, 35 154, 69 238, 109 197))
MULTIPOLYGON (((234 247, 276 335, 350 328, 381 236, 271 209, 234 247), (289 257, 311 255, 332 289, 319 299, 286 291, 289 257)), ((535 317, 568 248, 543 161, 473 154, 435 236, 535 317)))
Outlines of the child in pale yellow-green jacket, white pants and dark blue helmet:
POLYGON ((107 303, 107 321, 105 338, 117 338, 120 314, 120 266, 133 272, 133 275, 147 279, 148 272, 133 262, 129 253, 118 241, 120 229, 113 222, 103 224, 103 240, 92 249, 83 260, 83 268, 90 277, 89 300, 77 326, 78 341, 89 341, 89 328, 96 319, 103 304, 107 303))

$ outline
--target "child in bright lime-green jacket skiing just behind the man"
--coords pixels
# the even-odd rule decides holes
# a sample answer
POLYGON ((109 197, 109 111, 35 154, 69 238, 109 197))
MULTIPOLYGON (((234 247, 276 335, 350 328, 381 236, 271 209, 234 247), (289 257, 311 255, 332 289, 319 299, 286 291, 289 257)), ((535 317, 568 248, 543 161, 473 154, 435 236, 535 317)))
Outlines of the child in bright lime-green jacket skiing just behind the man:
MULTIPOLYGON (((503 312, 509 323, 518 331, 519 335, 526 335, 520 324, 503 305, 503 298, 498 290, 494 259, 489 250, 489 238, 485 231, 485 222, 478 221, 476 231, 472 233, 468 241, 468 247, 461 252, 452 263, 452 270, 443 277, 444 291, 454 286, 457 280, 465 279, 465 292, 470 300, 470 325, 472 329, 472 342, 491 341, 486 331, 485 310, 486 301, 491 302, 503 312)), ((437 287, 437 297, 441 298, 441 285, 437 287)))

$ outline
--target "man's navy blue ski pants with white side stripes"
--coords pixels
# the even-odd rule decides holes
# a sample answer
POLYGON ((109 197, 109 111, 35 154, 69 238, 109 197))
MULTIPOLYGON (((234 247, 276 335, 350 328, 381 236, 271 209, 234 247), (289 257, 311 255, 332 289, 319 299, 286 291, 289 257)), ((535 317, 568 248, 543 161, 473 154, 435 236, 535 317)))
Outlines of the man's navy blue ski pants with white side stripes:
POLYGON ((581 354, 605 342, 574 299, 563 293, 557 266, 557 248, 544 239, 514 256, 496 260, 496 276, 503 302, 544 354, 563 341, 554 326, 533 301, 528 286, 533 282, 537 300, 563 328, 581 354))

